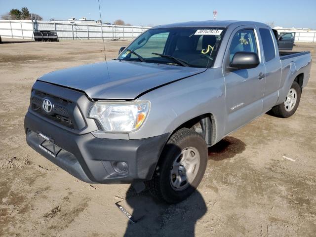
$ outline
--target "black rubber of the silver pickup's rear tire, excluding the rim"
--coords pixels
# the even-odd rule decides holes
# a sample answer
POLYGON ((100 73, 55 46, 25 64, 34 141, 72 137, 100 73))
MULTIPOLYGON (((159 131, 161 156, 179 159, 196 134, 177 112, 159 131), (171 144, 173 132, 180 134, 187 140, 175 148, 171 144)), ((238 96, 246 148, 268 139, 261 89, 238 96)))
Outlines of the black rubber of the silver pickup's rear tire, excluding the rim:
POLYGON ((297 107, 300 103, 300 99, 301 99, 301 87, 300 85, 294 81, 290 90, 294 89, 296 91, 296 103, 294 105, 294 107, 290 110, 290 111, 286 111, 285 109, 285 100, 282 102, 282 104, 276 105, 274 106, 269 112, 268 114, 279 117, 279 118, 288 118, 290 116, 292 116, 295 111, 297 110, 297 107))

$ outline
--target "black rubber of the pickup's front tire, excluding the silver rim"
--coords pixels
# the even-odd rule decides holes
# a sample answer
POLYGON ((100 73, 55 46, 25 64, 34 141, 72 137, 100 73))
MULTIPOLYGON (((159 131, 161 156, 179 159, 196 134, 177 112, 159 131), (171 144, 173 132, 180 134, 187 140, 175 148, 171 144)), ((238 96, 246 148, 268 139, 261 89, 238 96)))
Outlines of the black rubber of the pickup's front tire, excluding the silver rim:
POLYGON ((178 130, 165 145, 152 180, 146 182, 147 189, 154 197, 166 203, 174 204, 183 201, 196 190, 201 182, 207 165, 207 157, 207 146, 201 135, 188 128, 178 130), (199 167, 190 185, 182 191, 176 191, 171 186, 170 172, 175 158, 187 147, 197 149, 200 156, 199 167))

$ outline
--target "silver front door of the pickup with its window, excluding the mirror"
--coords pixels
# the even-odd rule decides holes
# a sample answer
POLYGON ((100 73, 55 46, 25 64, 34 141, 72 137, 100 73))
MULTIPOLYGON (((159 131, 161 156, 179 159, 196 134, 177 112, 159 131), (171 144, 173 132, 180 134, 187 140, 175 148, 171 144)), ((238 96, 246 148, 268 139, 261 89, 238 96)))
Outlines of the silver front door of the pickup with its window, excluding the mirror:
POLYGON ((232 33, 228 45, 223 63, 227 112, 225 134, 262 114, 262 97, 265 88, 265 66, 262 63, 256 27, 237 28, 232 33), (257 53, 260 64, 251 69, 229 69, 235 53, 240 51, 257 53))

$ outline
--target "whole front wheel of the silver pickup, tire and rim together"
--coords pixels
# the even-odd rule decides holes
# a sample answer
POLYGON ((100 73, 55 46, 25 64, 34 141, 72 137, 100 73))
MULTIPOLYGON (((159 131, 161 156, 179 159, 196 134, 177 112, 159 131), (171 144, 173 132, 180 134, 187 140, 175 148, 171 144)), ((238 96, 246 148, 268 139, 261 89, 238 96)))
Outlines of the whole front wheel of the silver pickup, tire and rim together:
POLYGON ((182 128, 168 140, 149 191, 167 203, 178 203, 189 197, 201 182, 207 164, 205 140, 194 130, 182 128))

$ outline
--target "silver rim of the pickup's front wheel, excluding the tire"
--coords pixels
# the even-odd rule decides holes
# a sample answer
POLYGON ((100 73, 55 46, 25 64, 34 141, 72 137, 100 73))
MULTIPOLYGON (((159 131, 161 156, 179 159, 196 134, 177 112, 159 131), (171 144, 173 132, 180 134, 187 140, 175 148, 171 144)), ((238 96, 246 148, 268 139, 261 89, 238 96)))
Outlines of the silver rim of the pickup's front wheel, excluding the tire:
POLYGON ((186 147, 175 158, 170 170, 170 185, 175 191, 185 190, 197 176, 200 155, 195 147, 186 147))

